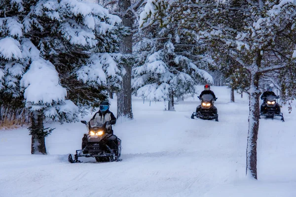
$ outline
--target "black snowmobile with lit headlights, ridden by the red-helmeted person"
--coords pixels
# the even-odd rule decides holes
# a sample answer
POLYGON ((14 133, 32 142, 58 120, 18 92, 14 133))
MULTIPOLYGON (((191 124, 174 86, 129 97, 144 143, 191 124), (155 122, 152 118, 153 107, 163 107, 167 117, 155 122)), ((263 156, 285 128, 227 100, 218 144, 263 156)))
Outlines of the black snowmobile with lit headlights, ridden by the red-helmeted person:
POLYGON ((196 112, 193 112, 191 115, 191 119, 200 118, 203 120, 218 120, 218 111, 217 108, 214 106, 214 102, 218 99, 214 99, 214 97, 210 94, 203 95, 201 98, 201 104, 196 107, 196 112))

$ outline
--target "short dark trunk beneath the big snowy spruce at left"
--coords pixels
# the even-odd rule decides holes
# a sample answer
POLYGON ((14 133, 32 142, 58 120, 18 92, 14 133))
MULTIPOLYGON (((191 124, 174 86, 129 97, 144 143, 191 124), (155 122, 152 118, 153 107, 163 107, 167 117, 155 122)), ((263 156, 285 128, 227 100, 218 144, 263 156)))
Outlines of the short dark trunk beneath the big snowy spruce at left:
POLYGON ((31 154, 46 154, 43 119, 42 111, 35 111, 31 115, 31 154))

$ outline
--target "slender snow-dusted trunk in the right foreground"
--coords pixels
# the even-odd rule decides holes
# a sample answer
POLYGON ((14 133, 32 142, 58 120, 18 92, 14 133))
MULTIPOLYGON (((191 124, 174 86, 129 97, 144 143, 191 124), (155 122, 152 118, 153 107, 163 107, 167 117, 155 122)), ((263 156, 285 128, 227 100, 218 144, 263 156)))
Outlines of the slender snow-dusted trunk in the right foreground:
POLYGON ((246 175, 257 179, 257 139, 259 131, 259 73, 252 73, 249 101, 249 132, 247 141, 246 175))

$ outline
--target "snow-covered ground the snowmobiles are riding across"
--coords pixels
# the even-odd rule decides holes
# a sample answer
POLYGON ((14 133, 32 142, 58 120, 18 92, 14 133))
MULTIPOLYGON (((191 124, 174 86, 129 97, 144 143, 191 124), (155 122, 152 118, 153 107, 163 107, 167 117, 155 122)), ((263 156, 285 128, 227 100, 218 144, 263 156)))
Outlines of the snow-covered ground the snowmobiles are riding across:
POLYGON ((230 103, 229 89, 212 89, 219 122, 190 119, 196 96, 176 104, 176 112, 133 99, 134 120, 113 127, 122 162, 69 164, 86 131, 81 123, 50 125, 56 129, 46 138, 48 155, 30 154, 26 128, 0 131, 0 197, 296 197, 295 112, 284 106, 286 122, 260 120, 259 180, 249 180, 247 96, 230 103))

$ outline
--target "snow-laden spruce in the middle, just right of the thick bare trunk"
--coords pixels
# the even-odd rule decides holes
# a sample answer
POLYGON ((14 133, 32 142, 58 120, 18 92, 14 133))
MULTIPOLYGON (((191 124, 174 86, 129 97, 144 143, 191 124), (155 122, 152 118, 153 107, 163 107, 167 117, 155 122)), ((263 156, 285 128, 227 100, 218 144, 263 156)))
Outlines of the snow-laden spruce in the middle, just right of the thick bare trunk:
POLYGON ((133 70, 133 88, 137 96, 148 100, 168 101, 167 110, 174 110, 174 97, 194 93, 200 82, 213 83, 212 76, 199 66, 211 60, 201 52, 200 43, 187 36, 187 29, 177 29, 165 18, 166 1, 148 0, 141 13, 140 27, 146 36, 141 43, 139 64, 133 70), (163 9, 159 15, 155 10, 163 9))

